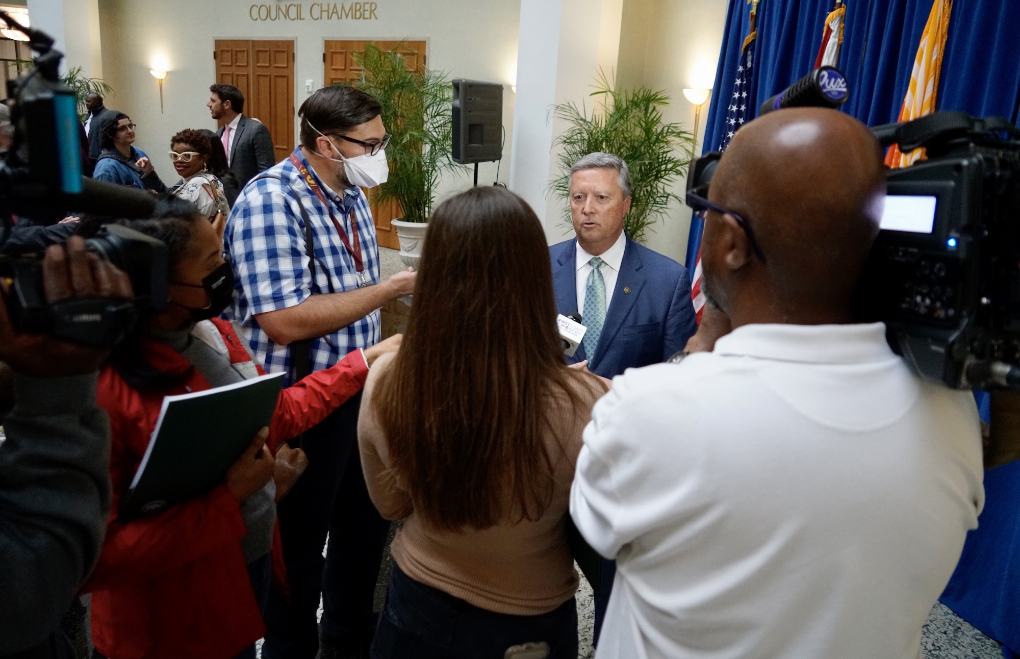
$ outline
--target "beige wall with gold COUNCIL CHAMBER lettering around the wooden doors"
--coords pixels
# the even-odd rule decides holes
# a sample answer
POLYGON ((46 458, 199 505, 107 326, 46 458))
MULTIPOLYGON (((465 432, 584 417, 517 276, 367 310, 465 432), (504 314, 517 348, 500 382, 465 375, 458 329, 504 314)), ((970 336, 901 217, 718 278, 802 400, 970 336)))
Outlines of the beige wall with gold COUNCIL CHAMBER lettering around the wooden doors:
MULTIPOLYGON (((103 72, 115 90, 106 105, 138 123, 137 145, 152 156, 166 183, 174 179, 165 156, 170 136, 185 128, 215 128, 205 107, 209 85, 215 82, 213 42, 249 38, 294 39, 296 106, 309 96, 306 80, 313 81, 313 89, 322 85, 322 42, 327 39, 423 39, 428 42, 430 68, 447 70, 452 78, 505 83, 503 121, 508 135, 500 178, 506 181, 519 0, 376 0, 377 18, 369 20, 312 20, 309 6, 319 3, 301 4, 305 20, 258 21, 249 16, 251 1, 100 0, 103 72), (169 71, 163 82, 162 114, 150 68, 169 71)), ((469 186, 471 174, 465 169, 459 176, 446 176, 441 196, 469 186)), ((495 176, 496 164, 482 163, 479 182, 492 184, 495 176)))

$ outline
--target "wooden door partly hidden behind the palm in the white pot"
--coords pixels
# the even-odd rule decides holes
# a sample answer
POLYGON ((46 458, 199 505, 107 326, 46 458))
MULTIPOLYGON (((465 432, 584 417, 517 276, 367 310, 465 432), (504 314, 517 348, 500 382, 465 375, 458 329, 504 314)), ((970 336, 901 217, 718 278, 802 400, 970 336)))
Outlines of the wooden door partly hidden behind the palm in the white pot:
MULTIPOLYGON (((326 85, 336 83, 350 83, 361 78, 361 67, 354 62, 354 56, 365 52, 365 41, 326 41, 325 52, 322 56, 324 63, 323 80, 326 85)), ((376 41, 376 46, 382 50, 393 50, 401 42, 399 41, 376 41)), ((398 51, 407 61, 408 68, 424 68, 425 66, 425 42, 408 41, 398 51)), ((390 220, 397 219, 403 215, 400 205, 395 201, 386 204, 378 203, 372 191, 366 191, 368 203, 371 205, 372 218, 375 221, 375 234, 378 236, 380 247, 400 249, 400 241, 397 232, 394 231, 390 220)))

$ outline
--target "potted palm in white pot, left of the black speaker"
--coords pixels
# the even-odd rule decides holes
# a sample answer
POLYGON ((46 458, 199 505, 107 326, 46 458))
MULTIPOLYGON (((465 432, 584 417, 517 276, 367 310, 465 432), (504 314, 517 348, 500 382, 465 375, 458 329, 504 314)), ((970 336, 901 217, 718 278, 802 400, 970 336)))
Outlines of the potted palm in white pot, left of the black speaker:
POLYGON ((450 80, 444 71, 408 68, 400 54, 405 48, 403 43, 392 50, 366 44, 363 54, 354 55, 361 80, 349 84, 382 106, 382 122, 393 137, 386 150, 390 179, 379 186, 376 200, 400 205, 403 215, 393 220, 400 258, 417 267, 440 175, 460 165, 452 155, 450 80))

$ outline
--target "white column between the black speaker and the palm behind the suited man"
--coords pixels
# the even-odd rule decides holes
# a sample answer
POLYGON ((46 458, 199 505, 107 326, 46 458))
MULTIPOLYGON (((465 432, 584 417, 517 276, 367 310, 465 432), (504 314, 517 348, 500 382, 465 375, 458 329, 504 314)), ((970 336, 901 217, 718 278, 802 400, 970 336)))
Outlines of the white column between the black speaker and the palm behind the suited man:
POLYGON ((595 106, 599 67, 610 77, 616 67, 622 9, 623 0, 520 3, 509 187, 534 209, 551 243, 571 235, 563 222, 566 201, 548 191, 558 173, 553 140, 563 128, 552 108, 566 101, 590 111, 595 106))

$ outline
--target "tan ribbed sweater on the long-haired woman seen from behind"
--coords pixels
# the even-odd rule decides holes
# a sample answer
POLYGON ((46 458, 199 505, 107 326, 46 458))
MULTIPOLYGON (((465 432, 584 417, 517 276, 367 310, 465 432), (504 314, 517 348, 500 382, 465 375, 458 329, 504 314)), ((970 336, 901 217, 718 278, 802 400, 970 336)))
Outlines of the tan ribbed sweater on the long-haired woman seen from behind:
MULTIPOLYGON (((373 364, 358 420, 358 445, 368 494, 387 519, 396 519, 411 508, 408 493, 382 478, 391 462, 387 439, 371 406, 375 381, 392 361, 392 356, 387 355, 373 364)), ((579 409, 550 410, 556 425, 549 438, 556 489, 542 518, 453 533, 434 527, 412 510, 391 545, 394 560, 408 576, 479 608, 511 615, 548 613, 573 597, 577 572, 565 531, 570 484, 580 452, 581 432, 591 419, 592 406, 605 393, 605 387, 595 376, 581 382, 579 409), (557 435, 563 442, 562 449, 557 446, 557 435)))

